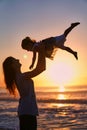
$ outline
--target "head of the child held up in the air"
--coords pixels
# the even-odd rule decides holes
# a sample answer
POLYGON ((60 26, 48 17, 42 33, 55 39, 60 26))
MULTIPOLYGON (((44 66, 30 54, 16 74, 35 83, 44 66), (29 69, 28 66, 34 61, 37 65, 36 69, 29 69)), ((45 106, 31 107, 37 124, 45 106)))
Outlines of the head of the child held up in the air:
POLYGON ((30 37, 26 37, 22 40, 21 46, 23 49, 30 51, 36 41, 30 37))

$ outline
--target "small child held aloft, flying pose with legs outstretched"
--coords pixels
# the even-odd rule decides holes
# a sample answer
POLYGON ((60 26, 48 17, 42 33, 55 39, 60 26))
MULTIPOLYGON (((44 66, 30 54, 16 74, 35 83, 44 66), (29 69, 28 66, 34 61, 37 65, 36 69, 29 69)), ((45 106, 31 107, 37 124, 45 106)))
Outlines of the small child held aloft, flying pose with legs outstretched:
POLYGON ((40 42, 36 42, 35 40, 32 40, 30 37, 26 37, 25 39, 23 39, 21 44, 22 48, 27 51, 33 52, 32 64, 30 66, 30 69, 34 66, 36 60, 36 52, 38 52, 38 50, 40 49, 41 44, 44 44, 45 46, 45 56, 50 59, 54 58, 57 48, 66 50, 67 52, 73 54, 76 59, 78 59, 77 52, 65 46, 64 43, 69 32, 79 24, 79 22, 72 23, 71 26, 67 28, 62 35, 50 37, 40 42))

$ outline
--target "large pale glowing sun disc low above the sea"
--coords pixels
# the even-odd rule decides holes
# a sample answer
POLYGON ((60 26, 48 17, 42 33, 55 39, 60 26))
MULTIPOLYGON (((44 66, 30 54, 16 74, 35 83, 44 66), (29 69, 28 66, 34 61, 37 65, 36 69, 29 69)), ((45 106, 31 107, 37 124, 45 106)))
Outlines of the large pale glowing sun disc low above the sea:
POLYGON ((49 68, 48 76, 55 84, 64 86, 74 77, 74 68, 72 64, 60 62, 53 64, 49 68))

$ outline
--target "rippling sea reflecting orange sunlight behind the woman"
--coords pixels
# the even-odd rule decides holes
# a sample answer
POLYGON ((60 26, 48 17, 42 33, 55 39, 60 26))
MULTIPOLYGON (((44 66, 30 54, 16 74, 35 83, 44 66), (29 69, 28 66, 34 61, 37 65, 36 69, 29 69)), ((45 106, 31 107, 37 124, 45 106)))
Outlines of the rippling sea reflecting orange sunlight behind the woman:
MULTIPOLYGON (((38 130, 87 130, 87 86, 61 88, 35 88, 38 130)), ((0 130, 19 130, 18 99, 0 87, 0 130)))

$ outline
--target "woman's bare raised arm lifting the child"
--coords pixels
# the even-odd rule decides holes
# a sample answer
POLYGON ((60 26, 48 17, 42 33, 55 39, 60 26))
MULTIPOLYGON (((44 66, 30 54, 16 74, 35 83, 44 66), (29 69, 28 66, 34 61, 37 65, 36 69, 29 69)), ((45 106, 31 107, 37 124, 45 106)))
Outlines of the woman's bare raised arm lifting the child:
POLYGON ((30 72, 25 72, 24 75, 27 78, 33 78, 43 72, 46 69, 46 59, 45 59, 45 46, 40 44, 40 48, 38 50, 38 61, 36 68, 30 72))

